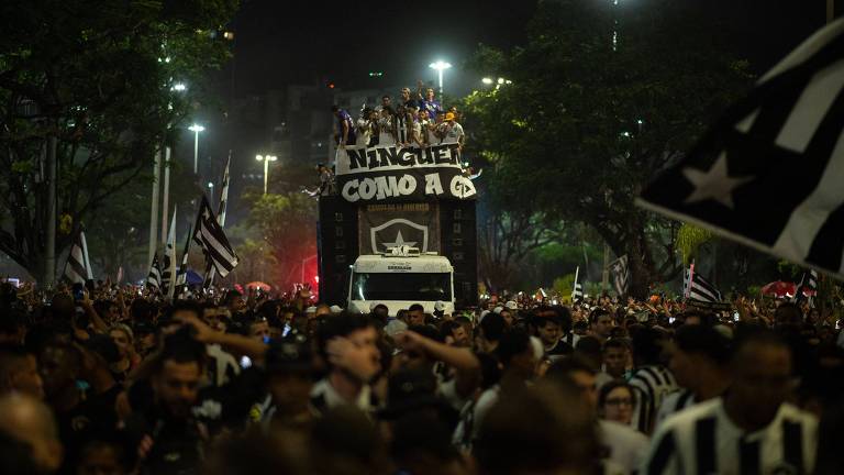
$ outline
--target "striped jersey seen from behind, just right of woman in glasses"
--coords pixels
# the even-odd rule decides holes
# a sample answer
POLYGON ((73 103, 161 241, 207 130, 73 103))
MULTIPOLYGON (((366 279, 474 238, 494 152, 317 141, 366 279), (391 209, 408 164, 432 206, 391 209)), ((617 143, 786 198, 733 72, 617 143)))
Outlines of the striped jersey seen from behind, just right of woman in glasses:
POLYGON ((630 377, 636 396, 633 408, 633 427, 649 434, 663 399, 678 389, 671 372, 663 365, 645 365, 636 368, 630 377))

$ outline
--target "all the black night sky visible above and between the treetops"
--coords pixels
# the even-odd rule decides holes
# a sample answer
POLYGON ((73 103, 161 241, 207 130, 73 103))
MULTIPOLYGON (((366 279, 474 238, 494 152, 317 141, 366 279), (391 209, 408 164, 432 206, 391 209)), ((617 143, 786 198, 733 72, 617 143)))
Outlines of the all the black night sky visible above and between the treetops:
MULTIPOLYGON (((612 1, 612 0, 582 0, 612 1)), ((647 0, 620 0, 647 8, 647 0)), ((823 23, 824 0, 677 0, 704 4, 725 27, 735 53, 765 70, 823 23)), ((839 10, 844 0, 837 0, 839 10)), ((235 95, 330 79, 338 87, 433 80, 427 64, 443 58, 446 90, 480 78, 460 70, 478 43, 509 47, 524 38, 537 0, 282 1, 244 0, 233 22, 235 95), (367 73, 382 70, 382 79, 367 73), (381 81, 378 84, 377 81, 381 81)), ((231 92, 231 69, 223 73, 231 92)))

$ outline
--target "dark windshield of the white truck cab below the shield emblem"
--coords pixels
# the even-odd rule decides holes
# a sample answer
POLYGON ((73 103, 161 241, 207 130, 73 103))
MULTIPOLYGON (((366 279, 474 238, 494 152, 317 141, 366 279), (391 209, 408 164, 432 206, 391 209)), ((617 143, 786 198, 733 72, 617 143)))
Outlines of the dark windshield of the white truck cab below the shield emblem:
POLYGON ((451 274, 355 273, 352 300, 449 301, 451 274))

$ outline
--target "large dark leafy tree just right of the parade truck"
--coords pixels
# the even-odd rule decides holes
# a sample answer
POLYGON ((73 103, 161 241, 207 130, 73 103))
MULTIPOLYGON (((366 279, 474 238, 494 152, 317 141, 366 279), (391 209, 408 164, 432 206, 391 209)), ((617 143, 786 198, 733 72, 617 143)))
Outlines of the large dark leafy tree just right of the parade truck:
POLYGON ((637 209, 635 196, 749 84, 702 23, 688 2, 542 2, 524 46, 481 46, 473 60, 506 78, 465 100, 469 146, 508 184, 490 192, 593 228, 629 256, 632 295, 680 268, 679 223, 637 209))

